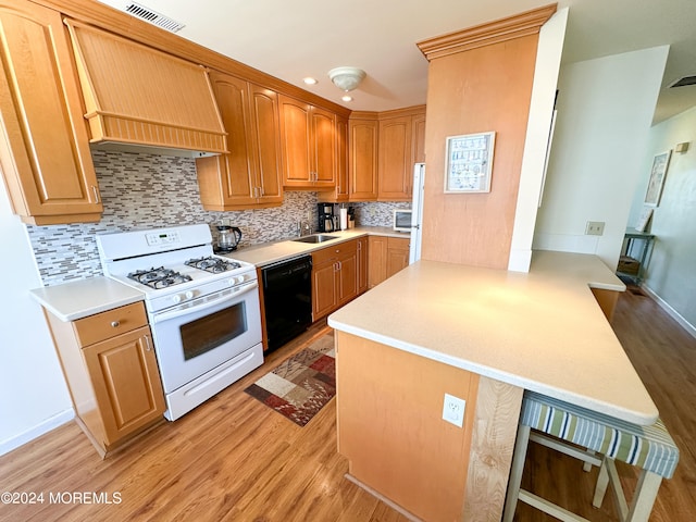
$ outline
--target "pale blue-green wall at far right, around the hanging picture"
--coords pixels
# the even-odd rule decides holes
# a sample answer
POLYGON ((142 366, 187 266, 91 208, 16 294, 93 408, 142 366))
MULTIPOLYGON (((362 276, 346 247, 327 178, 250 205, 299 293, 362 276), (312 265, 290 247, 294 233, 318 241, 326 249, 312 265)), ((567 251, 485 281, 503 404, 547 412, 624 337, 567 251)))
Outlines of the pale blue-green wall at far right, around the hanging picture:
POLYGON ((696 108, 650 129, 641 163, 629 223, 641 215, 655 154, 672 150, 660 204, 652 212, 650 232, 656 235, 644 286, 669 307, 678 320, 696 331, 696 108), (676 144, 689 142, 685 153, 676 144))

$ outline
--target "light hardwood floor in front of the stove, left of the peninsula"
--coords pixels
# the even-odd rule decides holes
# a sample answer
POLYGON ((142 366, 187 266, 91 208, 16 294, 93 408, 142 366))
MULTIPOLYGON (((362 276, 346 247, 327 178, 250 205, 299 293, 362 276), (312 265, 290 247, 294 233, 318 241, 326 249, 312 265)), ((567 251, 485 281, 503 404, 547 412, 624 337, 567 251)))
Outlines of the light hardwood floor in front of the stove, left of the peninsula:
POLYGON ((103 461, 72 422, 0 457, 0 493, 45 494, 44 504, 0 504, 0 521, 406 522, 344 478, 335 400, 299 427, 243 391, 326 332, 325 323, 313 327, 213 399, 103 461), (62 492, 117 493, 121 502, 49 502, 62 492))

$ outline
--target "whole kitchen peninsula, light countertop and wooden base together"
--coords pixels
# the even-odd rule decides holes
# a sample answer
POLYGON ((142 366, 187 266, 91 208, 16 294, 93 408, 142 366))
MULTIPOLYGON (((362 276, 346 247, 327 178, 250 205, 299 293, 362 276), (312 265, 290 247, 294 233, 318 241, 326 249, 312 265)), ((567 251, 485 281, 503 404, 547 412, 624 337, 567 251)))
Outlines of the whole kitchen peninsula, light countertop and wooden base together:
POLYGON ((422 260, 330 315, 350 476, 423 520, 494 520, 524 389, 652 423, 591 287, 624 289, 587 254, 536 251, 529 273, 422 260))

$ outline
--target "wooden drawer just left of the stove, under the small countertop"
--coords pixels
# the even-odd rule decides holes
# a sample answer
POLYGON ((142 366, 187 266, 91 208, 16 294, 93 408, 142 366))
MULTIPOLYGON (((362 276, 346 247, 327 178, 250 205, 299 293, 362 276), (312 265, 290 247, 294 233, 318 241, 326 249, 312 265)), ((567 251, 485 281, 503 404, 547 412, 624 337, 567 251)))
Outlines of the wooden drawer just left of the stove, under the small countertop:
POLYGON ((85 347, 132 330, 147 326, 148 316, 142 302, 96 313, 73 323, 79 345, 85 347))

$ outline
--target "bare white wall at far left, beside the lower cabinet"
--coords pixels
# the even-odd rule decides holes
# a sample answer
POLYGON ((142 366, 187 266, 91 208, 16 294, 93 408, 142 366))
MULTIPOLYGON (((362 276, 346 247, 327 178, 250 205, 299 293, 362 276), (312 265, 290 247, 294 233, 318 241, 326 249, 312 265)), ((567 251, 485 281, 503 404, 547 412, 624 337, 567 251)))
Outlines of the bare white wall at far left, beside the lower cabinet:
POLYGON ((41 307, 29 240, 0 183, 0 455, 73 418, 70 395, 41 307))

